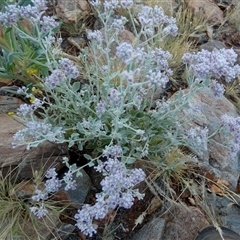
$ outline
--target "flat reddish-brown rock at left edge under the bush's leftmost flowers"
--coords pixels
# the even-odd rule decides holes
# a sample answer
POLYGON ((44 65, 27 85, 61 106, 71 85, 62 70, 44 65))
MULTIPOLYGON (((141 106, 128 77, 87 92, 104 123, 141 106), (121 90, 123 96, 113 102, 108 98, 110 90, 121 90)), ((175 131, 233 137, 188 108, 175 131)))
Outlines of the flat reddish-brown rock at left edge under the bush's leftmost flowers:
POLYGON ((11 169, 18 166, 19 177, 26 179, 33 176, 33 170, 46 171, 51 166, 59 170, 62 167, 62 156, 68 153, 67 145, 45 142, 29 151, 25 146, 13 148, 13 135, 23 125, 6 114, 0 114, 0 124, 0 167, 3 172, 8 172, 10 166, 11 169))

